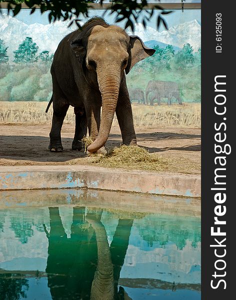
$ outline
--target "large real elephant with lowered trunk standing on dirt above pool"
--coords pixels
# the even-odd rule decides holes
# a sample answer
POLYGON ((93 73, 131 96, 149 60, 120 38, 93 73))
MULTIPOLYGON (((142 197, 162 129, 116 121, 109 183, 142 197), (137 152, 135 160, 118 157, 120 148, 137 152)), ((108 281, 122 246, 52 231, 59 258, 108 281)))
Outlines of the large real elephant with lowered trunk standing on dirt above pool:
POLYGON ((60 130, 69 105, 74 107, 75 113, 72 149, 81 150, 81 138, 86 135, 87 128, 93 140, 87 150, 96 152, 102 148, 114 112, 122 143, 135 145, 124 72, 127 74, 136 62, 154 52, 138 36, 129 36, 122 28, 109 25, 100 17, 89 19, 81 30, 66 35, 55 51, 50 69, 52 97, 47 106, 48 109, 53 103, 50 151, 63 149, 60 130))

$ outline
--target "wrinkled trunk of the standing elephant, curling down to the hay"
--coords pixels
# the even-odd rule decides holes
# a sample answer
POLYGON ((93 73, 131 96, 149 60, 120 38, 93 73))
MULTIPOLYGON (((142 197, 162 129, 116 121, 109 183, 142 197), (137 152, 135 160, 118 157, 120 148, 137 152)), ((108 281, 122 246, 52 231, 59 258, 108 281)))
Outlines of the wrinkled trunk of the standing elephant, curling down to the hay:
POLYGON ((115 67, 112 68, 109 66, 109 71, 112 70, 112 74, 109 74, 106 67, 97 68, 97 81, 101 92, 102 111, 98 135, 93 143, 87 147, 89 152, 95 152, 102 147, 110 133, 120 86, 120 70, 115 72, 114 69, 115 67))

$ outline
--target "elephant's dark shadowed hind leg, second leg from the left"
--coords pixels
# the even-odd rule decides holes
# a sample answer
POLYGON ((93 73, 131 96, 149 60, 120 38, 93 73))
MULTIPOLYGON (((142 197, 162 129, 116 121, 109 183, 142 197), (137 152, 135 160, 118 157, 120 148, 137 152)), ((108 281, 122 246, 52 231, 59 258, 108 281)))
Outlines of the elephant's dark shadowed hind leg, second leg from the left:
POLYGON ((72 150, 81 150, 81 139, 87 134, 87 119, 85 109, 83 107, 74 107, 75 114, 75 132, 72 142, 72 150))

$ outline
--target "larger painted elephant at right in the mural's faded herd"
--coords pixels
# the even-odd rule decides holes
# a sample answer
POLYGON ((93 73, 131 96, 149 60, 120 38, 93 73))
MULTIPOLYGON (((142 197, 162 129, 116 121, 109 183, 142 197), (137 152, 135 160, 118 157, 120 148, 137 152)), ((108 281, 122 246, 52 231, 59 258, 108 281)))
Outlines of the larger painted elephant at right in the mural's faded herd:
POLYGON ((176 82, 150 80, 146 86, 146 103, 150 101, 150 105, 154 104, 154 99, 157 99, 157 104, 160 105, 161 98, 168 98, 168 105, 171 104, 172 97, 175 97, 179 104, 182 104, 179 89, 176 82), (149 96, 148 96, 149 95, 149 96))

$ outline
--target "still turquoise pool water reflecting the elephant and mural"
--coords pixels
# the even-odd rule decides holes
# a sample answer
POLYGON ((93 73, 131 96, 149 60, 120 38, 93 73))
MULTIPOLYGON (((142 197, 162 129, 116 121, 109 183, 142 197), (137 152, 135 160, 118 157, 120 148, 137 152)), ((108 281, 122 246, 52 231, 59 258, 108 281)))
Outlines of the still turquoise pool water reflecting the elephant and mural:
POLYGON ((199 199, 0 192, 0 299, 200 299, 199 199))

